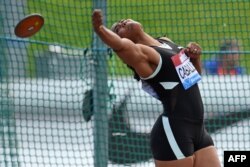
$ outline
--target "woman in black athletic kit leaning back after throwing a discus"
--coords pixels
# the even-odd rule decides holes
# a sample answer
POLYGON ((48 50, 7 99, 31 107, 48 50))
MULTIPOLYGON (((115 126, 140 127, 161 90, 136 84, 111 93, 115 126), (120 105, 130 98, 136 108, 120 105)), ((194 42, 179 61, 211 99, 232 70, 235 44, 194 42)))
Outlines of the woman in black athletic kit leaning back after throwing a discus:
POLYGON ((96 34, 139 76, 142 88, 159 99, 164 112, 151 131, 156 167, 220 167, 213 140, 204 127, 200 80, 201 48, 183 48, 171 40, 155 39, 131 19, 103 25, 102 12, 92 15, 96 34))

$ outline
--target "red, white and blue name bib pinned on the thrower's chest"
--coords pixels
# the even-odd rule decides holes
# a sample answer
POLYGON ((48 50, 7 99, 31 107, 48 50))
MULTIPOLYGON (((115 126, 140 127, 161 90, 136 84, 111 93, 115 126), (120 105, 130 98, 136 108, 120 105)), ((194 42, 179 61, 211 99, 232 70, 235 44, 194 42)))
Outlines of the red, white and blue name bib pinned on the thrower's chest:
POLYGON ((187 57, 184 50, 172 56, 171 59, 185 90, 201 80, 200 74, 190 62, 190 58, 187 57))

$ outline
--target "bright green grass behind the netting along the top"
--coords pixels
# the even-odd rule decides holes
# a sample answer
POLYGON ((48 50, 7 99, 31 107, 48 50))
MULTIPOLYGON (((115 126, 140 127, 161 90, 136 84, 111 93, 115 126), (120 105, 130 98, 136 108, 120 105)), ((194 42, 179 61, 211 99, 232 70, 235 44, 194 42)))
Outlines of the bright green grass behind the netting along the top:
MULTIPOLYGON (((44 28, 33 39, 77 48, 91 47, 92 8, 91 0, 28 1, 27 13, 41 13, 45 17, 44 28)), ((237 38, 241 49, 249 51, 249 16, 247 0, 108 0, 106 24, 110 27, 121 18, 133 18, 149 34, 167 35, 184 46, 189 41, 197 41, 204 51, 217 51, 222 39, 237 38)), ((34 49, 39 47, 30 46, 30 62, 34 49)), ((249 58, 245 61, 245 66, 250 66, 249 58)))

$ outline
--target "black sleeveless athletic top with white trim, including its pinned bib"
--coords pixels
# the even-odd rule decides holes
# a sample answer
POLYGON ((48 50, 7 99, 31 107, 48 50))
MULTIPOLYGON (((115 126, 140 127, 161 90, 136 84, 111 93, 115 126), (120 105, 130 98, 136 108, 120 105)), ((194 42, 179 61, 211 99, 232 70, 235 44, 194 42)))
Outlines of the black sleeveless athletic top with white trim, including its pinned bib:
POLYGON ((159 53, 160 61, 152 75, 141 78, 142 88, 163 103, 165 116, 203 120, 203 103, 197 85, 200 75, 183 47, 158 40, 162 45, 152 47, 159 53))

